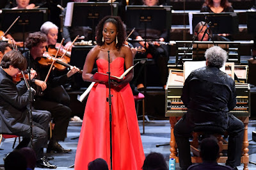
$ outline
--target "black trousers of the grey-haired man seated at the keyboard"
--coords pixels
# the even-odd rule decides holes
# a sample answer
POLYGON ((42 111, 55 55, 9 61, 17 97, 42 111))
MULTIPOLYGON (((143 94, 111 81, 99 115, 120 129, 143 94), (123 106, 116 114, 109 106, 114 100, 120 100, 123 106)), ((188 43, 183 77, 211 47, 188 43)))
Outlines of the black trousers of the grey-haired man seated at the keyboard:
MULTIPOLYGON (((241 151, 244 137, 244 124, 234 115, 228 115, 228 159, 227 166, 236 167, 241 164, 241 151)), ((191 166, 189 137, 195 125, 189 121, 189 114, 184 116, 174 127, 175 140, 179 150, 180 167, 187 169, 191 166)))

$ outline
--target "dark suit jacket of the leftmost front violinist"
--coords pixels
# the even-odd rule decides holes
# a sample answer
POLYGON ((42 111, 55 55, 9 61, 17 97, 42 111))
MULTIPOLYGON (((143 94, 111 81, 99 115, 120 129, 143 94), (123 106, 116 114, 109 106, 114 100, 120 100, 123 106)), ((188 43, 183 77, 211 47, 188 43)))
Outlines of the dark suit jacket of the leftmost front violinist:
POLYGON ((0 133, 15 134, 28 130, 28 103, 29 91, 24 81, 16 86, 12 77, 0 68, 0 133))

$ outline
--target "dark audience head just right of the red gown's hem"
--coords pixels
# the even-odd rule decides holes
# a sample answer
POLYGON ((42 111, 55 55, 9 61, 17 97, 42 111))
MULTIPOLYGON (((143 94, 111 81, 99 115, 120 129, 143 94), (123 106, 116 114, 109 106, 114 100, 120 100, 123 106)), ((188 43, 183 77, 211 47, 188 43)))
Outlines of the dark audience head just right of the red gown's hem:
POLYGON ((151 152, 144 160, 143 170, 167 170, 168 166, 161 153, 151 152))

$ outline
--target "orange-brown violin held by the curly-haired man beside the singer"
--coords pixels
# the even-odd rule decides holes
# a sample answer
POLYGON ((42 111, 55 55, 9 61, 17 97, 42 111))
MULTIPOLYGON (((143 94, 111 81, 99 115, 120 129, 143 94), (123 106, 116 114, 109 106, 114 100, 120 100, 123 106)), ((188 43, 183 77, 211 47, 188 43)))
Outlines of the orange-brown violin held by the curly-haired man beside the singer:
MULTIPOLYGON (((42 58, 38 60, 38 63, 42 66, 51 65, 54 62, 54 68, 57 70, 65 70, 67 67, 71 67, 68 65, 68 61, 65 58, 54 58, 49 52, 44 52, 42 58)), ((79 73, 83 73, 82 70, 79 70, 79 73)))

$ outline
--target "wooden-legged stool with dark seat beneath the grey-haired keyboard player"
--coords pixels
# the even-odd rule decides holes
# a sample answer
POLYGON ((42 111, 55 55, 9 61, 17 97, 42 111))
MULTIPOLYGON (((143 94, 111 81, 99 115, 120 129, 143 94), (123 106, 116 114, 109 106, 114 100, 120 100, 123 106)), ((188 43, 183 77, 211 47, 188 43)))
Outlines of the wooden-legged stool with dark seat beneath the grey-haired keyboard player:
POLYGON ((202 158, 200 158, 199 140, 202 141, 202 139, 205 137, 210 137, 211 135, 216 137, 220 147, 220 158, 218 158, 218 162, 223 163, 223 159, 221 158, 223 156, 222 151, 228 149, 228 143, 223 139, 223 135, 227 135, 227 132, 225 132, 223 128, 216 127, 214 125, 196 125, 196 127, 193 128, 192 135, 193 141, 190 143, 190 150, 195 156, 192 159, 195 159, 196 163, 202 162, 202 158))

